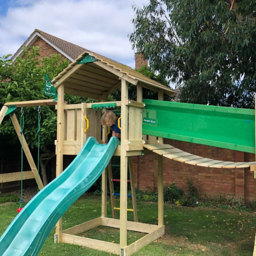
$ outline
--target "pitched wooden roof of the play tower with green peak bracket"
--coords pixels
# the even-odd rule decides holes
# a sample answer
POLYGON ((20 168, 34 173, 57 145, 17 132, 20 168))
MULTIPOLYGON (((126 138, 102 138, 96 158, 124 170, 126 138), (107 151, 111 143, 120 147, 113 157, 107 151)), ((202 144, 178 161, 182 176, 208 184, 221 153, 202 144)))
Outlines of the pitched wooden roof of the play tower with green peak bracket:
POLYGON ((55 88, 65 82, 65 93, 102 100, 121 87, 120 77, 142 87, 174 96, 175 92, 131 67, 89 50, 84 51, 69 67, 59 73, 52 83, 55 88))

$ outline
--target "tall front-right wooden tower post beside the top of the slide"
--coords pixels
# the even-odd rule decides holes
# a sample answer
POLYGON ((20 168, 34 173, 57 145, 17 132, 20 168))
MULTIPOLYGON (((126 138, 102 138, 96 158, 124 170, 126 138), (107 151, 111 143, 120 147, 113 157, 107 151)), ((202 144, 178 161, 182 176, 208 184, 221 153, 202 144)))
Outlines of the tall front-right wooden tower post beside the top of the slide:
POLYGON ((121 174, 120 174, 120 255, 126 256, 127 247, 127 157, 125 141, 128 138, 128 82, 121 80, 121 174))

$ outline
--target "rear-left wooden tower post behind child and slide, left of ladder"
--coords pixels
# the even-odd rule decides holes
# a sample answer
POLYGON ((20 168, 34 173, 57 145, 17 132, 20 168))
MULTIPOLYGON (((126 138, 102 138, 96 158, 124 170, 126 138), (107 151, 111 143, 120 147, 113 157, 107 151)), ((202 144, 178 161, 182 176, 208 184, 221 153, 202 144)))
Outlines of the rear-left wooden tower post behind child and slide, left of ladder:
MULTIPOLYGON (((103 101, 108 101, 108 95, 103 95, 103 101)), ((105 111, 105 109, 103 109, 105 111)), ((106 143, 106 126, 104 125, 102 129, 102 143, 106 143)), ((108 187, 108 172, 104 169, 104 172, 101 175, 101 217, 106 217, 106 192, 108 187)))

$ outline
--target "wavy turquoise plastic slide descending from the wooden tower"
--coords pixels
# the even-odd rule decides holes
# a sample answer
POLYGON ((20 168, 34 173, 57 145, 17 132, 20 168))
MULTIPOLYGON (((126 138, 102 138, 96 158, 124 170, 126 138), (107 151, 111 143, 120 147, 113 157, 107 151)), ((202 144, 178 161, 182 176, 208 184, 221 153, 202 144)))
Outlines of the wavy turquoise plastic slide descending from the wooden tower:
POLYGON ((0 256, 35 256, 67 209, 99 178, 120 141, 90 137, 73 162, 24 208, 0 239, 0 256))

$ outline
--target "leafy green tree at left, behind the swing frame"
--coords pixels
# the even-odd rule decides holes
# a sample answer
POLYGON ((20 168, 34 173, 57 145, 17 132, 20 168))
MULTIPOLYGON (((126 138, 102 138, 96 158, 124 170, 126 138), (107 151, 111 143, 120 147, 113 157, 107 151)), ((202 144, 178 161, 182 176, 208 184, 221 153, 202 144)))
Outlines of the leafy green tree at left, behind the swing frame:
MULTIPOLYGON (((38 47, 32 47, 29 50, 24 48, 23 57, 17 57, 14 63, 8 59, 9 56, 0 58, 0 79, 2 81, 0 83, 0 109, 6 102, 47 99, 44 94, 44 73, 53 78, 69 65, 68 59, 62 58, 60 54, 42 58, 39 62, 38 47)), ((19 110, 16 115, 19 120, 19 110)), ((42 106, 40 115, 40 167, 42 179, 46 185, 48 182, 46 166, 55 156, 55 152, 51 150, 56 139, 57 117, 54 106, 42 106)), ((24 108, 24 136, 32 149, 38 146, 37 116, 37 107, 24 108)), ((1 146, 4 148, 6 143, 16 143, 17 139, 11 120, 6 118, 1 125, 1 146)), ((1 152, 4 153, 4 150, 1 152)))

